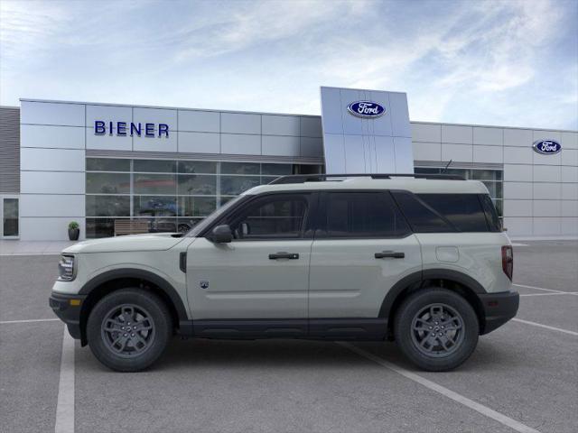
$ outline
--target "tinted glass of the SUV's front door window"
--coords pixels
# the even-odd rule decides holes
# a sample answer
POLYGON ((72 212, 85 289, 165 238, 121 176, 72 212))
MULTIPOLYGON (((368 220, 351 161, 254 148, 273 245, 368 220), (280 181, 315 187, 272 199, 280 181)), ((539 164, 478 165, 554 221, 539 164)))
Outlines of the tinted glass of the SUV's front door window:
POLYGON ((231 229, 238 239, 301 237, 307 200, 300 196, 257 199, 234 217, 231 229))

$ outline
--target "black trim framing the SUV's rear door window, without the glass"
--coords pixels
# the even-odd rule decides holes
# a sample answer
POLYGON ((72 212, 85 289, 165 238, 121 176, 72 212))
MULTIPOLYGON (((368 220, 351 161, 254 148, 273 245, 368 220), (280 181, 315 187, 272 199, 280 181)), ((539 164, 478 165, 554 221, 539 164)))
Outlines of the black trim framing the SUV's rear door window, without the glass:
POLYGON ((401 211, 401 209, 399 208, 399 206, 397 205, 396 200, 393 198, 391 192, 389 189, 323 189, 319 191, 319 207, 317 209, 317 216, 315 217, 315 226, 314 226, 314 239, 315 240, 322 240, 322 241, 330 241, 330 240, 363 240, 363 239, 405 239, 408 236, 414 235, 414 231, 412 226, 409 224, 409 222, 407 221, 406 216, 404 215, 404 213, 401 211), (325 224, 322 222, 323 221, 323 217, 325 217, 327 215, 327 203, 328 203, 328 199, 329 199, 329 194, 331 193, 336 193, 336 194, 351 194, 351 193, 358 193, 358 194, 362 194, 362 193, 373 193, 373 194, 383 194, 384 196, 389 196, 389 198, 391 198, 391 203, 394 207, 396 207, 396 209, 399 212, 399 215, 402 217, 402 219, 406 222, 406 226, 407 226, 407 232, 403 235, 389 235, 389 236, 383 236, 383 235, 379 235, 379 236, 375 236, 375 235, 367 235, 367 236, 361 236, 361 235, 355 235, 355 236, 330 236, 330 235, 324 235, 324 232, 322 231, 323 228, 325 228, 325 224))

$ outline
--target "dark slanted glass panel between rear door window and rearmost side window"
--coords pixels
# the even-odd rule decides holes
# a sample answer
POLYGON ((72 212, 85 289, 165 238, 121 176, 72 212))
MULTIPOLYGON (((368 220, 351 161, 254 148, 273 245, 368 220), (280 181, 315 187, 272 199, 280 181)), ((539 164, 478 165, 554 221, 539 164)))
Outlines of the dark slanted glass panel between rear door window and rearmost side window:
POLYGON ((455 232, 439 214, 428 208, 411 192, 393 192, 396 202, 415 233, 455 232))

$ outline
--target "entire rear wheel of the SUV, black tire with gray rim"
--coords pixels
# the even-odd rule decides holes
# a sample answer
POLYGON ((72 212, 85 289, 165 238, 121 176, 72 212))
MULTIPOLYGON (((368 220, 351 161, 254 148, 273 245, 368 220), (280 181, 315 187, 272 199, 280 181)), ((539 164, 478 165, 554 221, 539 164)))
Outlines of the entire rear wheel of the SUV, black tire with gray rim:
POLYGON ((406 358, 429 372, 463 364, 478 345, 480 325, 470 303, 446 289, 418 290, 396 313, 394 336, 406 358))

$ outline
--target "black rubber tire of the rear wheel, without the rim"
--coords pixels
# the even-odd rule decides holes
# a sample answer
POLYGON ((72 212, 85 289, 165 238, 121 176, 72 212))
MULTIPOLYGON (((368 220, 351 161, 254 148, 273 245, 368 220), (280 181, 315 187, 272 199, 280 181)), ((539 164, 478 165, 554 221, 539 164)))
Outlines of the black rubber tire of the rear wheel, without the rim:
POLYGON ((397 310, 394 323, 396 343, 406 357, 418 367, 428 371, 452 370, 463 364, 478 344, 480 324, 470 303, 459 294, 445 289, 424 289, 415 292, 397 310), (430 304, 446 304, 455 309, 463 320, 464 338, 460 347, 448 356, 429 357, 420 352, 411 336, 415 315, 430 304))

